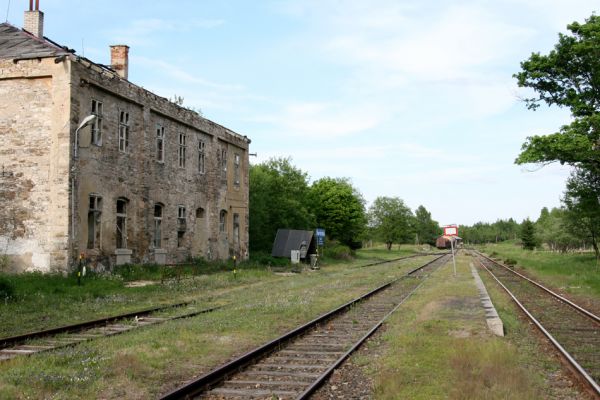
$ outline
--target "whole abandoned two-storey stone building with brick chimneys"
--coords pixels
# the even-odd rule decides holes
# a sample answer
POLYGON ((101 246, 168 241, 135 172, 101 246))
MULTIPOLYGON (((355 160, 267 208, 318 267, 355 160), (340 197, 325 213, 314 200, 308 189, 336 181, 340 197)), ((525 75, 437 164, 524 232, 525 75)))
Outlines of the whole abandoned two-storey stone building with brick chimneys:
POLYGON ((248 256, 250 140, 94 63, 0 24, 0 256, 14 271, 248 256))

